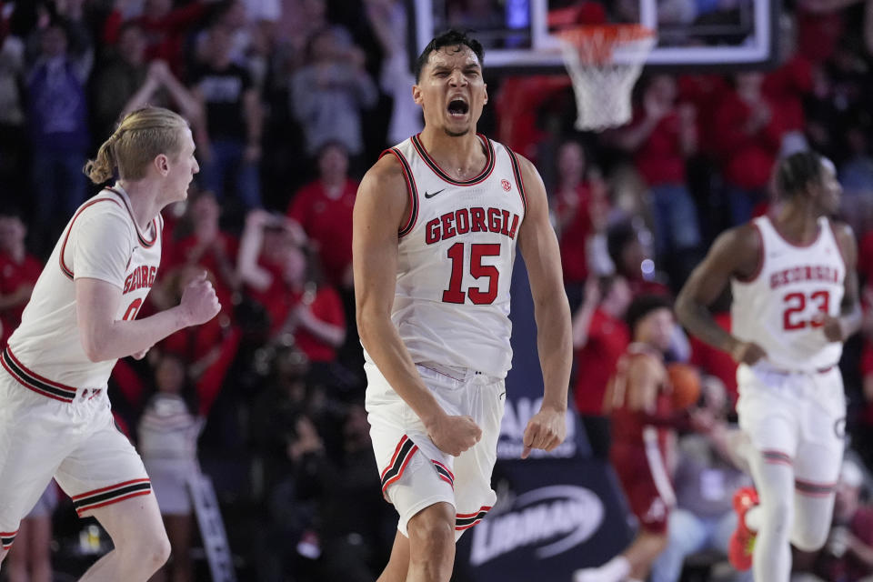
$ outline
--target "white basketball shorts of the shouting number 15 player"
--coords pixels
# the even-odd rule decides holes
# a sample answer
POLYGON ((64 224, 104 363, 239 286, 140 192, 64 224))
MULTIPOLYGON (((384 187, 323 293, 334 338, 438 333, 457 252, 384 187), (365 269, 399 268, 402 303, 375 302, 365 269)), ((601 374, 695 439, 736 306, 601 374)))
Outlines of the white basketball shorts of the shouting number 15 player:
POLYGON ((418 365, 425 386, 447 414, 472 416, 482 438, 458 457, 447 455, 427 437, 406 402, 388 385, 376 366, 367 363, 366 410, 382 492, 408 536, 409 519, 426 507, 446 502, 455 507, 455 538, 479 523, 494 505, 491 472, 497 461, 497 438, 506 390, 502 378, 475 370, 418 365))

